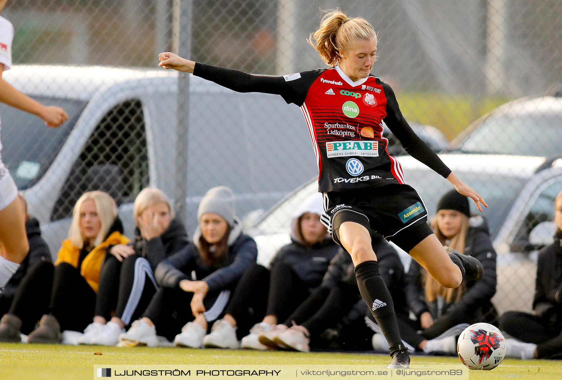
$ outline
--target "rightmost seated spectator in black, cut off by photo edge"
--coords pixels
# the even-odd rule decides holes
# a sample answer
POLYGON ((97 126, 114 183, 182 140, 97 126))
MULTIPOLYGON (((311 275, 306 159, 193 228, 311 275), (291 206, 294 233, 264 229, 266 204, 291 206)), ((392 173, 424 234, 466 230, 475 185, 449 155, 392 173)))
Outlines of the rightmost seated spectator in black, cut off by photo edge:
POLYGON ((539 359, 562 354, 562 192, 555 200, 556 234, 537 260, 534 314, 506 312, 500 329, 507 333, 508 358, 539 359))

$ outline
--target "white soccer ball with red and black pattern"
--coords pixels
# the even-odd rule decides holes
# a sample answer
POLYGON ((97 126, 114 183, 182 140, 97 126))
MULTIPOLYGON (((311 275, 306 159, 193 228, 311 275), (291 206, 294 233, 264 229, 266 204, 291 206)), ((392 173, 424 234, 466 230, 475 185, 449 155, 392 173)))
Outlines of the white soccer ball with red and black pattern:
POLYGON ((475 323, 459 336, 457 353, 469 369, 494 369, 505 358, 505 338, 496 326, 475 323))

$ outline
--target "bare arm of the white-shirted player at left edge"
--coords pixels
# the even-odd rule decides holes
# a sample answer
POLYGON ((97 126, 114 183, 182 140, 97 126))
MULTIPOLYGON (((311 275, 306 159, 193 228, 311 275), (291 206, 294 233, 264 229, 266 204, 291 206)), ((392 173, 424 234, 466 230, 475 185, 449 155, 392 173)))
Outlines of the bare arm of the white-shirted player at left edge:
POLYGON ((4 65, 0 63, 0 102, 37 115, 43 119, 46 125, 53 128, 60 126, 69 118, 64 109, 55 106, 43 106, 43 104, 13 88, 2 78, 3 71, 4 65))

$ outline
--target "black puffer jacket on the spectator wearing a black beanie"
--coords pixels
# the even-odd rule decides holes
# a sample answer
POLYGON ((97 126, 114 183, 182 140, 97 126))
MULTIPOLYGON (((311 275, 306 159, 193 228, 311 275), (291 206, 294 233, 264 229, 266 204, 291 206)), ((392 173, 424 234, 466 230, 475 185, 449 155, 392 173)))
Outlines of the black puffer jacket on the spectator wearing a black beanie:
POLYGON ((488 224, 481 216, 470 218, 464 253, 480 260, 484 267, 484 277, 467 283, 468 289, 457 303, 441 304, 437 300, 427 303, 422 283, 422 267, 412 260, 406 275, 406 297, 408 306, 416 317, 429 312, 433 319, 437 319, 445 313, 464 312, 469 318, 483 318, 483 314, 492 308, 490 300, 496 294, 496 251, 490 240, 488 224))

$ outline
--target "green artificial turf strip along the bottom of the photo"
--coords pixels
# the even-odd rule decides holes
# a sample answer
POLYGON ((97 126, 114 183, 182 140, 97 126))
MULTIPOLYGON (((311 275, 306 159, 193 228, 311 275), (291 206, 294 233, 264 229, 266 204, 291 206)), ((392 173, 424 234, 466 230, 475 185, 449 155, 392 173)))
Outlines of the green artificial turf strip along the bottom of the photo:
MULTIPOLYGON (((175 347, 102 347, 0 344, 0 379, 92 379, 94 365, 108 364, 388 364, 388 355, 332 352, 190 350, 175 347), (101 352, 102 355, 94 355, 101 352)), ((412 356, 416 364, 457 364, 443 356, 412 356)), ((562 378, 562 361, 505 359, 492 371, 470 371, 472 379, 562 378)), ((413 378, 413 377, 412 377, 413 378)))

